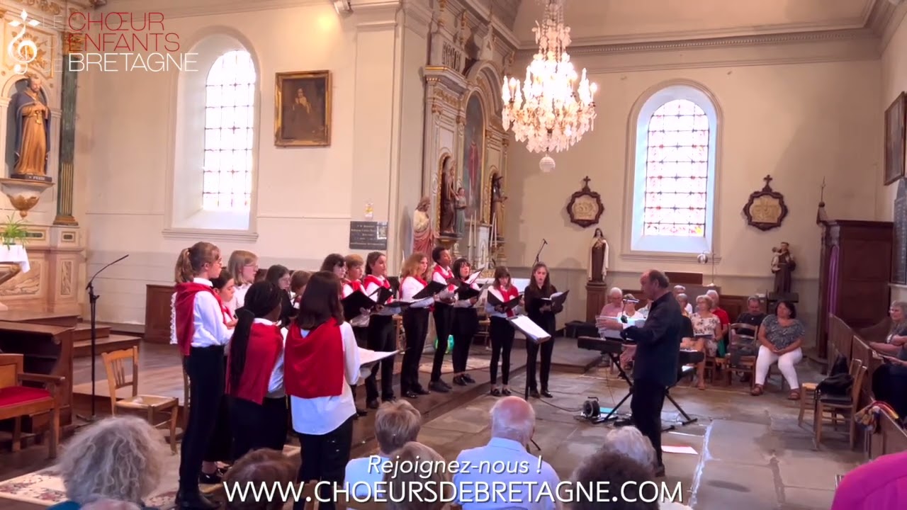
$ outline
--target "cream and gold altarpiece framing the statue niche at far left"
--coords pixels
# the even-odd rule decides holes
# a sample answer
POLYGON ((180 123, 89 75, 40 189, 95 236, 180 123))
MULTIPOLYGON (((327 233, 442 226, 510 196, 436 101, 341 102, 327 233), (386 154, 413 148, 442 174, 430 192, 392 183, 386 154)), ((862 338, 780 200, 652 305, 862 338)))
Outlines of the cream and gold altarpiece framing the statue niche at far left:
MULTIPOLYGON (((5 191, 0 194, 0 203, 5 210, 12 211, 15 220, 20 216, 24 218, 29 236, 24 248, 30 265, 28 272, 19 272, 0 285, 0 301, 9 309, 81 312, 79 300, 82 295, 80 281, 83 281, 85 272, 84 240, 83 230, 73 218, 76 85, 74 73, 67 75, 64 64, 65 35, 62 30, 67 15, 86 8, 87 5, 64 0, 0 0, 0 23, 3 25, 0 48, 4 50, 0 52, 0 83, 3 83, 3 93, 0 94, 0 114, 3 115, 0 146, 6 167, 0 176, 4 178, 5 191), (38 49, 28 72, 41 78, 44 97, 51 110, 47 175, 53 181, 43 192, 25 190, 22 181, 5 179, 12 170, 6 161, 12 150, 8 141, 15 140, 15 137, 7 136, 10 129, 7 126, 12 125, 10 103, 16 84, 24 79, 24 75, 15 74, 14 59, 5 49, 18 30, 10 22, 20 20, 23 9, 28 19, 40 23, 29 25, 25 34, 38 49), (63 125, 68 127, 63 128, 63 125)), ((7 216, 9 212, 4 212, 0 221, 6 221, 7 216)), ((0 280, 9 269, 6 266, 0 268, 0 280)), ((0 309, 3 308, 0 306, 0 309)))

